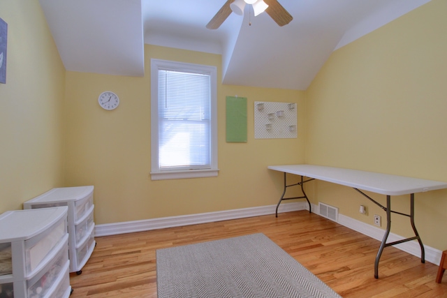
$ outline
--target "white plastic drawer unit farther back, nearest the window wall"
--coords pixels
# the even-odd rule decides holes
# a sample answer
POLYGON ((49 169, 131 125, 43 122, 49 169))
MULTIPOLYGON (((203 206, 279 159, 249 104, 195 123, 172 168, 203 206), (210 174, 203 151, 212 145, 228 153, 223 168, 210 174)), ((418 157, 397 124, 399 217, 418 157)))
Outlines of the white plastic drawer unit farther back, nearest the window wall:
POLYGON ((53 188, 24 202, 24 209, 68 206, 68 255, 70 272, 82 273, 95 247, 94 186, 53 188))

